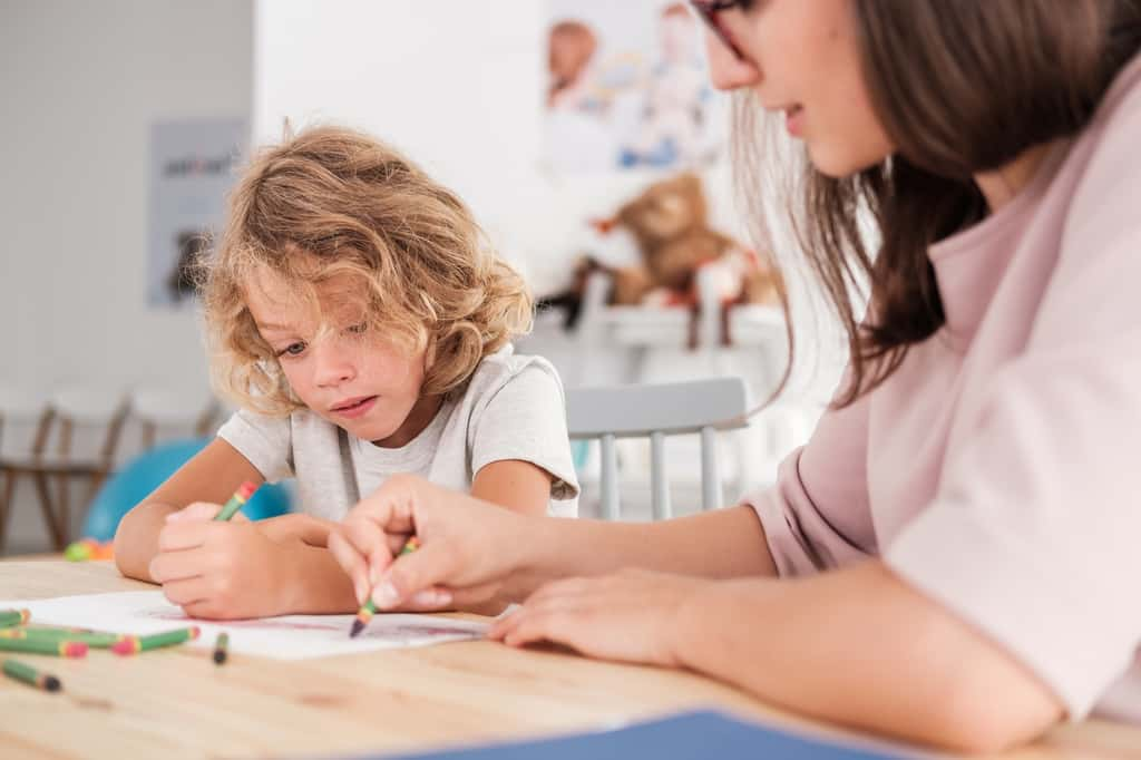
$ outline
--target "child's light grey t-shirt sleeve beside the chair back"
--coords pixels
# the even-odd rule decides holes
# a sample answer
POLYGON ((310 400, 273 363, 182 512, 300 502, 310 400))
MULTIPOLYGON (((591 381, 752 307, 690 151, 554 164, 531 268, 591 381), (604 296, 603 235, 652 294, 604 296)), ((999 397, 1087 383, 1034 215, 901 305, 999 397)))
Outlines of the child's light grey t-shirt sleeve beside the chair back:
POLYGON ((532 362, 503 383, 475 421, 472 474, 509 459, 547 470, 552 476, 551 499, 578 496, 563 383, 540 362, 532 362))

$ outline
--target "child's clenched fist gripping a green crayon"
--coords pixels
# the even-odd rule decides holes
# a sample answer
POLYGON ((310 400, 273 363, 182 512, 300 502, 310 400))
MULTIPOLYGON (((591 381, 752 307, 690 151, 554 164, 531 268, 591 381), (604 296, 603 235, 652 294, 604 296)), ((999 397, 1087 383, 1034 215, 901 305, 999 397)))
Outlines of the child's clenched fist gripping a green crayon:
POLYGON ((209 511, 195 512, 200 519, 167 523, 159 533, 151 577, 162 584, 167 599, 193 617, 280 614, 286 606, 285 595, 294 588, 296 563, 289 547, 249 520, 217 523, 202 517, 209 511))

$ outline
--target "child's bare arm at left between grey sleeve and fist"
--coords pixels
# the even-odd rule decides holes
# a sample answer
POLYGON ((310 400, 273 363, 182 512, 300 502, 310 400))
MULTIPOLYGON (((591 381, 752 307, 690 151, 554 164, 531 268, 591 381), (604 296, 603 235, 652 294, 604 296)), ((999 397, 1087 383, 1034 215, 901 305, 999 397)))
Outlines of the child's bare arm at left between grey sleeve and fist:
POLYGON ((153 583, 149 565, 159 553, 159 533, 167 525, 167 516, 195 502, 222 504, 244 480, 260 484, 264 478, 236 448, 215 438, 123 516, 115 531, 119 572, 153 583))

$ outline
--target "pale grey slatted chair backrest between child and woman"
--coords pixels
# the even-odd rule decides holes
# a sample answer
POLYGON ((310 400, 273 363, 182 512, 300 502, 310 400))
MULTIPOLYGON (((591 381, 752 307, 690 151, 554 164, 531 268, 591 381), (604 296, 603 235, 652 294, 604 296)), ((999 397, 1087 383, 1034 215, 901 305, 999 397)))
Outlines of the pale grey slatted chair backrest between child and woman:
POLYGON ((618 438, 649 437, 654 518, 665 519, 670 517, 665 437, 699 434, 702 508, 720 507, 715 432, 744 427, 747 411, 748 391, 741 378, 567 390, 570 438, 598 438, 600 442, 601 504, 607 519, 618 518, 618 438))

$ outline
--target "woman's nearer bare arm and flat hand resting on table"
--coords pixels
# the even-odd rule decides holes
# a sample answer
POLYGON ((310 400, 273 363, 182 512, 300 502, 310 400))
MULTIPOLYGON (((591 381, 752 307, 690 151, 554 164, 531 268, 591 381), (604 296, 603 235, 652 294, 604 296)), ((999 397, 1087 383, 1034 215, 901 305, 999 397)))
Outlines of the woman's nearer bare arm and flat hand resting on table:
POLYGON ((831 722, 972 752, 1027 741, 1063 712, 1006 649, 875 560, 784 581, 568 579, 491 636, 686 666, 831 722))

